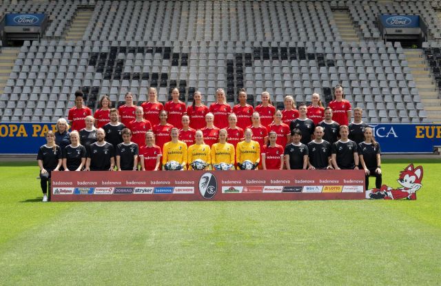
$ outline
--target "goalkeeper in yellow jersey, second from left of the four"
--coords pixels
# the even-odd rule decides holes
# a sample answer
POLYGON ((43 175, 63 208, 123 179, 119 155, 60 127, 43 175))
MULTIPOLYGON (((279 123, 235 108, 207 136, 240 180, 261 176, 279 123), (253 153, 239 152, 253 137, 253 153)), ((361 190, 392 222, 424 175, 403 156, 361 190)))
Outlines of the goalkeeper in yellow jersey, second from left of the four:
POLYGON ((207 170, 212 162, 210 147, 204 143, 201 130, 194 134, 196 143, 188 147, 188 170, 207 170))

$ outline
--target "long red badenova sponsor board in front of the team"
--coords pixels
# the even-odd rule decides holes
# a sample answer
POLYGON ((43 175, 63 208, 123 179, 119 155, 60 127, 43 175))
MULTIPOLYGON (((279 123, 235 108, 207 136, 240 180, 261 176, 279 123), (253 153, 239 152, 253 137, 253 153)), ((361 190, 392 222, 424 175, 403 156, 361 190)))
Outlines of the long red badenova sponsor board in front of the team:
POLYGON ((365 198, 362 170, 52 172, 51 201, 288 201, 365 198))

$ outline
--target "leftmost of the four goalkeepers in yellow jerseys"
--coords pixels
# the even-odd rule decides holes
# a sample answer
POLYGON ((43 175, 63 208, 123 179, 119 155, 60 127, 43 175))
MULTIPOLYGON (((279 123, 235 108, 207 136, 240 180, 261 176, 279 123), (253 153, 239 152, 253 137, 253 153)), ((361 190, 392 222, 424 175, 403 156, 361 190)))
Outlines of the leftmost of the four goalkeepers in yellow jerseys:
POLYGON ((187 144, 179 141, 179 130, 174 127, 170 136, 172 141, 164 144, 163 166, 165 170, 185 170, 187 167, 187 144))

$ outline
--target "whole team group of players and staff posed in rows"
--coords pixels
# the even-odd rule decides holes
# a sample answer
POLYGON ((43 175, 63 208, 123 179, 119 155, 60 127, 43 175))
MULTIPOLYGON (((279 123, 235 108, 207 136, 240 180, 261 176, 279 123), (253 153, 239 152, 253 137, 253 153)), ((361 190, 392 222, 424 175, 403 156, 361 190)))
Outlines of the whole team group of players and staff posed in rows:
POLYGON ((171 97, 163 105, 150 88, 148 101, 136 105, 128 92, 116 109, 103 95, 92 114, 77 91, 68 120, 57 121, 37 155, 43 201, 48 201, 53 171, 361 169, 366 188, 369 176, 381 186, 380 145, 341 85, 327 107, 317 93, 310 105, 287 95, 283 110, 271 105, 268 92, 254 108, 244 89, 233 108, 223 89, 216 90, 216 102, 209 106, 201 92, 188 106, 178 89, 171 97))

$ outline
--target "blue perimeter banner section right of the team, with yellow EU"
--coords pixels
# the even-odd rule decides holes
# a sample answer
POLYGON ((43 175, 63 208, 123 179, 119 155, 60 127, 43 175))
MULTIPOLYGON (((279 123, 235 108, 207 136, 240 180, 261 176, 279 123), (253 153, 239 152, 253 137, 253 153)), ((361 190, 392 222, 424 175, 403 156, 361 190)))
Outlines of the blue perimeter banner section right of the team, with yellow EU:
POLYGON ((441 125, 371 124, 382 153, 432 153, 441 146, 441 125))

